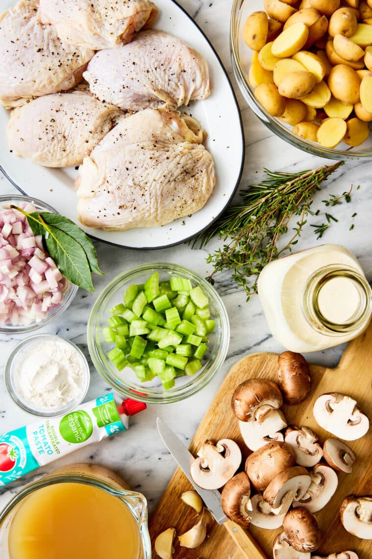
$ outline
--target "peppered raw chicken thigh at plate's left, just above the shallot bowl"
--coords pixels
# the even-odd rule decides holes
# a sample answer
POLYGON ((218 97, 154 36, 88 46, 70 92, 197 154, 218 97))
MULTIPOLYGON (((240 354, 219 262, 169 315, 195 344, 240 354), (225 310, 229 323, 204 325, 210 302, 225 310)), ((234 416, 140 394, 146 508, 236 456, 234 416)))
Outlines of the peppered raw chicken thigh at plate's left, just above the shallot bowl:
POLYGON ((13 154, 45 167, 79 165, 122 112, 89 92, 54 93, 15 108, 7 134, 13 154))

